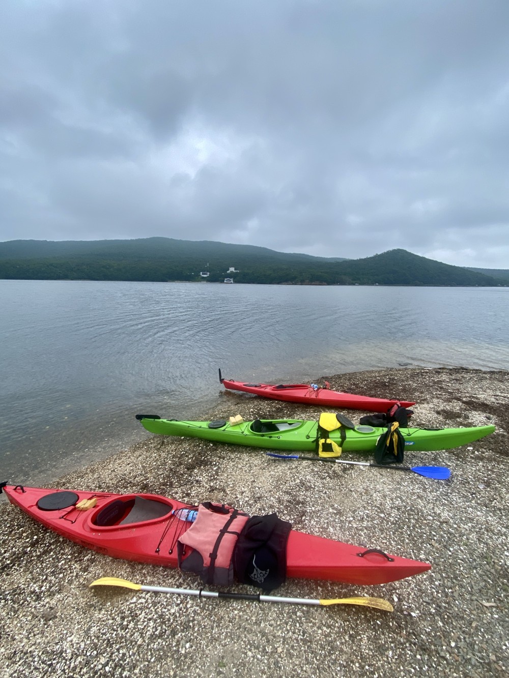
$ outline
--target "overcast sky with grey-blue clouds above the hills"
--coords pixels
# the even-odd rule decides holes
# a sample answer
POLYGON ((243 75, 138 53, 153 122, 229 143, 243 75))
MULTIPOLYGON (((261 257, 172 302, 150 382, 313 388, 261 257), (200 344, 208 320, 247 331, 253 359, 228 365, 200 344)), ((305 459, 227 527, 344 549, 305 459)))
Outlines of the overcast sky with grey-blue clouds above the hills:
POLYGON ((509 268, 508 0, 3 0, 0 240, 509 268))

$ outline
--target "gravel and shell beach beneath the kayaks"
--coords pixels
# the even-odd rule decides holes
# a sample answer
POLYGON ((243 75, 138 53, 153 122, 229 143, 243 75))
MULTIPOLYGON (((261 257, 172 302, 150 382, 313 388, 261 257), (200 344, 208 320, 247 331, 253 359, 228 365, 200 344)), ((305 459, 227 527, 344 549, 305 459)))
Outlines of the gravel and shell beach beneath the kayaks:
MULTIPOLYGON (((413 426, 493 423, 496 431, 455 450, 405 454, 412 466, 448 466, 447 481, 282 462, 261 450, 147 433, 145 441, 112 449, 104 461, 48 487, 154 492, 194 504, 225 501, 250 514, 276 511, 302 532, 432 563, 430 572, 381 586, 287 580, 272 594, 376 596, 394 612, 90 589, 101 576, 189 589, 200 588, 200 580, 83 549, 3 500, 0 675, 509 675, 509 373, 403 368, 312 381, 324 379, 338 391, 417 401, 413 426)), ((315 419, 325 411, 225 392, 203 418, 315 419)), ((345 413, 354 422, 367 414, 345 413)), ((256 593, 241 584, 230 590, 256 593)))

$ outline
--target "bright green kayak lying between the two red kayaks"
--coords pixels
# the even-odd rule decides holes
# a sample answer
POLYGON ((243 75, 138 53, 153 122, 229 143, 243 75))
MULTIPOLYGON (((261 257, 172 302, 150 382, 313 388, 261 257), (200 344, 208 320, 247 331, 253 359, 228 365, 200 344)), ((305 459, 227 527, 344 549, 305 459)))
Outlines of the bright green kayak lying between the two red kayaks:
MULTIPOLYGON (((178 435, 218 443, 250 445, 269 450, 316 450, 318 422, 299 419, 257 419, 254 422, 231 424, 224 420, 212 422, 161 419, 157 415, 136 414, 136 419, 150 431, 159 435, 178 435)), ((379 435, 387 428, 373 426, 341 426, 328 433, 345 452, 373 452, 379 435)), ((467 445, 495 431, 495 426, 470 428, 399 428, 404 437, 405 450, 431 452, 451 450, 467 445)))

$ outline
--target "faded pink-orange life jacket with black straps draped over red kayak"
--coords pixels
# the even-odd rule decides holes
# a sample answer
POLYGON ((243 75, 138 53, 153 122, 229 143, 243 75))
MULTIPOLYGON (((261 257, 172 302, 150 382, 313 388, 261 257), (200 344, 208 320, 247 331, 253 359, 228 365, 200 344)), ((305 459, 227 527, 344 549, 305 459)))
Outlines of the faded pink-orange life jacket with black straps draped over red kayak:
POLYGON ((193 525, 178 538, 178 567, 199 574, 205 584, 231 584, 233 549, 247 520, 246 513, 227 504, 200 504, 193 525), (184 557, 186 547, 191 553, 184 557))

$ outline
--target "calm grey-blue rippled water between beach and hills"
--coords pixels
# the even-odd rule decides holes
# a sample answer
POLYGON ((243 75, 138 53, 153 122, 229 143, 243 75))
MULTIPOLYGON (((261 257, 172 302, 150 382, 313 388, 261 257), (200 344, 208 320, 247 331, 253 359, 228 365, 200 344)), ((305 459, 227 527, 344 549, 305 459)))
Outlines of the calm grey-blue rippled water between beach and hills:
POLYGON ((197 418, 223 376, 307 382, 401 365, 509 370, 509 288, 0 280, 0 463, 16 483, 197 418))

